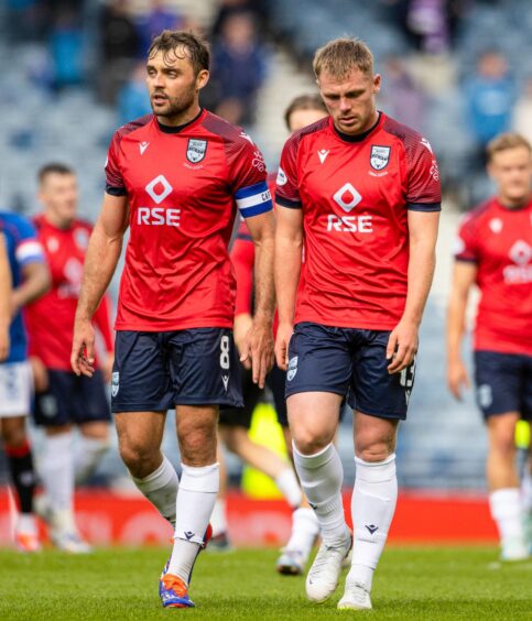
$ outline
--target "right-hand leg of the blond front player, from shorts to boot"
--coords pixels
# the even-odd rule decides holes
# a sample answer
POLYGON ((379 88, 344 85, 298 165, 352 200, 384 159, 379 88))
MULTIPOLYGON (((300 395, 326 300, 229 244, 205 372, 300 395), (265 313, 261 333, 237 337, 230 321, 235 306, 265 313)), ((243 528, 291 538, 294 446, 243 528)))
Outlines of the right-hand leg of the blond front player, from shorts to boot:
POLYGON ((338 608, 371 608, 373 573, 384 548, 398 498, 395 442, 406 417, 415 362, 390 375, 386 348, 389 333, 354 330, 354 367, 349 404, 354 420, 356 479, 351 497, 355 525, 351 568, 338 608))

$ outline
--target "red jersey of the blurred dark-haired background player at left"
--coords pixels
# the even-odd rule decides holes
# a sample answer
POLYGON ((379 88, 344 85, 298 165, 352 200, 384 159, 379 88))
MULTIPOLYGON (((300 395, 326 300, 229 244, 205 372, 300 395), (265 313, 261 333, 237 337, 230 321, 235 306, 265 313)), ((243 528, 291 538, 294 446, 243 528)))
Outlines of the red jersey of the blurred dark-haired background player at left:
MULTIPOLYGON (((72 371, 74 317, 91 228, 75 220, 68 229, 58 229, 44 215, 36 216, 33 222, 50 266, 52 288, 25 308, 30 356, 41 358, 48 369, 72 371)), ((94 323, 107 351, 112 351, 109 306, 106 297, 95 313, 94 323)))

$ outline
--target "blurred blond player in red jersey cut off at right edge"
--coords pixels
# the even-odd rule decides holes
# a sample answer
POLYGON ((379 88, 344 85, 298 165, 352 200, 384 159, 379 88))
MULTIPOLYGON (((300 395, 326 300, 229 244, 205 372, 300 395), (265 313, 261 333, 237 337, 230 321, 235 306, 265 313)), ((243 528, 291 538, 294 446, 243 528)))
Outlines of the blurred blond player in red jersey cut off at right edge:
MULTIPOLYGON (((501 557, 517 560, 529 555, 514 437, 520 417, 532 418, 532 154, 530 143, 513 133, 496 138, 487 154, 497 195, 467 214, 458 231, 447 316, 447 381, 457 399, 469 385, 460 345, 467 299, 476 284, 481 298, 475 383, 488 431, 489 504, 501 557)), ((524 500, 532 506, 532 499, 524 500)))

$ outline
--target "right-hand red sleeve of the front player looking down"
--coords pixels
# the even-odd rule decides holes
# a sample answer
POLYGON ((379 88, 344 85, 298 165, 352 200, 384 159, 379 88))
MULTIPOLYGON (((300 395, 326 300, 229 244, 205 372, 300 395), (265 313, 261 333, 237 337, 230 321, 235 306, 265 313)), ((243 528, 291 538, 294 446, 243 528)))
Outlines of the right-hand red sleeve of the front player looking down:
POLYGON ((431 143, 419 135, 409 137, 405 150, 408 208, 415 211, 439 211, 442 209, 439 170, 431 143))

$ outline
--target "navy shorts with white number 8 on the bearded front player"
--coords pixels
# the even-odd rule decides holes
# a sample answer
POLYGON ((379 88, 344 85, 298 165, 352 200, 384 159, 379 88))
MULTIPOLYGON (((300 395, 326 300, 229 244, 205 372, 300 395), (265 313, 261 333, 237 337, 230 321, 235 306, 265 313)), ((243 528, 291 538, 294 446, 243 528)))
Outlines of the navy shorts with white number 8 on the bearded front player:
POLYGON ((175 405, 243 405, 232 331, 117 331, 112 412, 164 412, 175 405))

